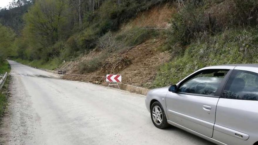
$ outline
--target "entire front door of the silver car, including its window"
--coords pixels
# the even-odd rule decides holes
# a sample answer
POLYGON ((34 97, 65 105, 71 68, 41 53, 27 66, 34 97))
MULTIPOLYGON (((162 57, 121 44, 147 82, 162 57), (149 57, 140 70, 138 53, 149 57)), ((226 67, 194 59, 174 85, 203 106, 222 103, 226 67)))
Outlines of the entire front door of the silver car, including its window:
POLYGON ((206 69, 189 76, 166 97, 168 120, 212 137, 218 99, 229 70, 206 69))

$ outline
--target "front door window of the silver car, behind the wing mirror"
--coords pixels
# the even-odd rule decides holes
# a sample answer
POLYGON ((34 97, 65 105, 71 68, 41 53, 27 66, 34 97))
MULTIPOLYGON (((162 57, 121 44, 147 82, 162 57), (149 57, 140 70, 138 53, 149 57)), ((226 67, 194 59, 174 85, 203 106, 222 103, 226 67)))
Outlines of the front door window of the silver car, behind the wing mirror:
POLYGON ((179 86, 177 92, 215 95, 228 71, 221 69, 203 70, 192 77, 190 76, 190 79, 179 86))

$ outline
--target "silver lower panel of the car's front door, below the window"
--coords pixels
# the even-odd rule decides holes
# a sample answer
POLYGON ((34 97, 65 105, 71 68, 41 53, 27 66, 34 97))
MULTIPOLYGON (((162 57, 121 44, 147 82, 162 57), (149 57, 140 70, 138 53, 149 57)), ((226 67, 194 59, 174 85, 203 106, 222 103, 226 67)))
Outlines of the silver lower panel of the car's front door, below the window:
POLYGON ((167 116, 172 122, 212 137, 219 98, 167 93, 167 116), (211 107, 206 109, 205 106, 211 107))

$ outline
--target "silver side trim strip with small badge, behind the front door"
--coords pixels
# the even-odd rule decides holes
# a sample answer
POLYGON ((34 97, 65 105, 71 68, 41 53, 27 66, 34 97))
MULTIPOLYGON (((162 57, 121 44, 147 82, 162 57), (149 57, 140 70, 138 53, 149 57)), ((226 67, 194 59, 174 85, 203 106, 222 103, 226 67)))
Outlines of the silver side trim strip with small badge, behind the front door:
POLYGON ((228 134, 228 135, 230 135, 232 137, 236 137, 236 138, 239 138, 239 139, 242 139, 242 140, 249 139, 249 135, 248 134, 245 134, 245 133, 242 133, 242 132, 238 132, 236 130, 233 130, 233 129, 230 129, 230 128, 227 128, 227 127, 223 127, 223 126, 220 126, 218 124, 214 125, 214 130, 216 130, 218 132, 222 132, 222 133, 228 134))

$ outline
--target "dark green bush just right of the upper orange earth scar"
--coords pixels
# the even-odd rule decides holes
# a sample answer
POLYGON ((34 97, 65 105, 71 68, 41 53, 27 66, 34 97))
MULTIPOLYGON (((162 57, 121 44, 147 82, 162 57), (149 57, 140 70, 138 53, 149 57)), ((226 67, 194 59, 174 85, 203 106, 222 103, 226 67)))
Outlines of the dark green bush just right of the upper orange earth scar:
POLYGON ((214 32, 213 21, 205 15, 205 2, 188 0, 180 7, 180 10, 171 20, 172 28, 169 29, 168 47, 177 42, 188 45, 191 39, 196 38, 199 33, 214 32))

